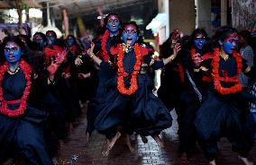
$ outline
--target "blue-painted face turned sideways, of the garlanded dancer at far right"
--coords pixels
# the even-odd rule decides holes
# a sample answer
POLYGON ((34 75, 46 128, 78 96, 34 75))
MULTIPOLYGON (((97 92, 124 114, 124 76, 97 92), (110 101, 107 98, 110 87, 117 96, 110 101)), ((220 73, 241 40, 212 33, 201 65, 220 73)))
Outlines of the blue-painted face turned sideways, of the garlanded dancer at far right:
POLYGON ((239 37, 236 33, 228 35, 223 42, 224 52, 228 55, 233 54, 233 50, 237 48, 239 37))

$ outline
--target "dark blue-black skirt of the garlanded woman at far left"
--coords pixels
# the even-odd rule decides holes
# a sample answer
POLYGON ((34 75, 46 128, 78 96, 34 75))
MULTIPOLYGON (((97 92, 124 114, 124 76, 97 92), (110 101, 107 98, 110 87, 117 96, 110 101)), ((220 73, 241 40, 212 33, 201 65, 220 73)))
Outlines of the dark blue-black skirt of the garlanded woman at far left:
POLYGON ((45 117, 45 112, 29 106, 22 117, 0 114, 0 162, 5 160, 6 154, 17 153, 31 164, 51 165, 43 138, 45 117))

